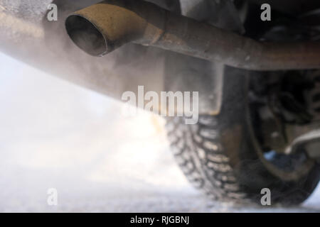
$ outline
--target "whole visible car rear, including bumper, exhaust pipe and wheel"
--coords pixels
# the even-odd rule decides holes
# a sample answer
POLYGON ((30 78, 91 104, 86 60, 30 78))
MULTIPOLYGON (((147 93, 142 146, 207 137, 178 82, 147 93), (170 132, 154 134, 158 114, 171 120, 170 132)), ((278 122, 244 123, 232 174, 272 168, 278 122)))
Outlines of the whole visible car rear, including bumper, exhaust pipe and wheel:
POLYGON ((319 1, 0 0, 0 31, 2 52, 119 101, 198 92, 196 123, 150 110, 174 113, 171 149, 210 199, 299 204, 319 182, 319 1))

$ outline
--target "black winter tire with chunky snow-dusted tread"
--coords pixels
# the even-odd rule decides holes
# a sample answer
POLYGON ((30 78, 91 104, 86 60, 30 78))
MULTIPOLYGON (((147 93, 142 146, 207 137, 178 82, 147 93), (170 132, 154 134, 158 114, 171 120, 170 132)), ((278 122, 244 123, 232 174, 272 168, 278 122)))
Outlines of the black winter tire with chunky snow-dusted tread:
MULTIPOLYGON (((174 61, 167 62, 167 74, 170 62, 174 61)), ((295 163, 290 155, 273 164, 265 159, 250 115, 249 79, 247 72, 228 67, 220 114, 199 116, 196 125, 167 118, 171 150, 184 175, 210 199, 260 204, 260 192, 268 188, 272 205, 300 204, 319 182, 319 165, 303 154, 299 167, 288 171, 287 163, 295 163)))

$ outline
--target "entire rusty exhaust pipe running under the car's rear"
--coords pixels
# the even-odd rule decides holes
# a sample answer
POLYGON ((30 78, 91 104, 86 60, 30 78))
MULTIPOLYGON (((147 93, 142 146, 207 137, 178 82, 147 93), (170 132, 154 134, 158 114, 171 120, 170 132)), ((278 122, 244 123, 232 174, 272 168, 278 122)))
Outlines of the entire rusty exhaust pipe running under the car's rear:
POLYGON ((132 42, 246 70, 320 68, 320 42, 260 42, 138 0, 107 0, 68 16, 79 48, 103 56, 132 42))

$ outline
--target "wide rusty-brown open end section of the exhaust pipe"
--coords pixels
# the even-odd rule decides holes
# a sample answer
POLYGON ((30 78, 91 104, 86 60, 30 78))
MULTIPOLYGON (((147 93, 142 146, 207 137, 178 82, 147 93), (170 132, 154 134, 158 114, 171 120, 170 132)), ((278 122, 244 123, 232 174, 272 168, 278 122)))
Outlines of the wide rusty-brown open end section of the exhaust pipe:
POLYGON ((103 56, 126 43, 147 45, 159 37, 164 10, 144 1, 107 0, 71 14, 65 28, 79 48, 103 56))

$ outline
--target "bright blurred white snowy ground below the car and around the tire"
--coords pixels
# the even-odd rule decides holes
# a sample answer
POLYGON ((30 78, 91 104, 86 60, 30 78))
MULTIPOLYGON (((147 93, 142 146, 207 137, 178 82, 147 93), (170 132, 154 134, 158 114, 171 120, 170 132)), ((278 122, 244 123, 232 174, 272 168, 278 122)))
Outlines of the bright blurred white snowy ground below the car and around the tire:
POLYGON ((161 118, 0 54, 0 211, 320 211, 320 189, 291 209, 208 201, 176 166, 161 118), (48 206, 47 190, 58 190, 48 206))

